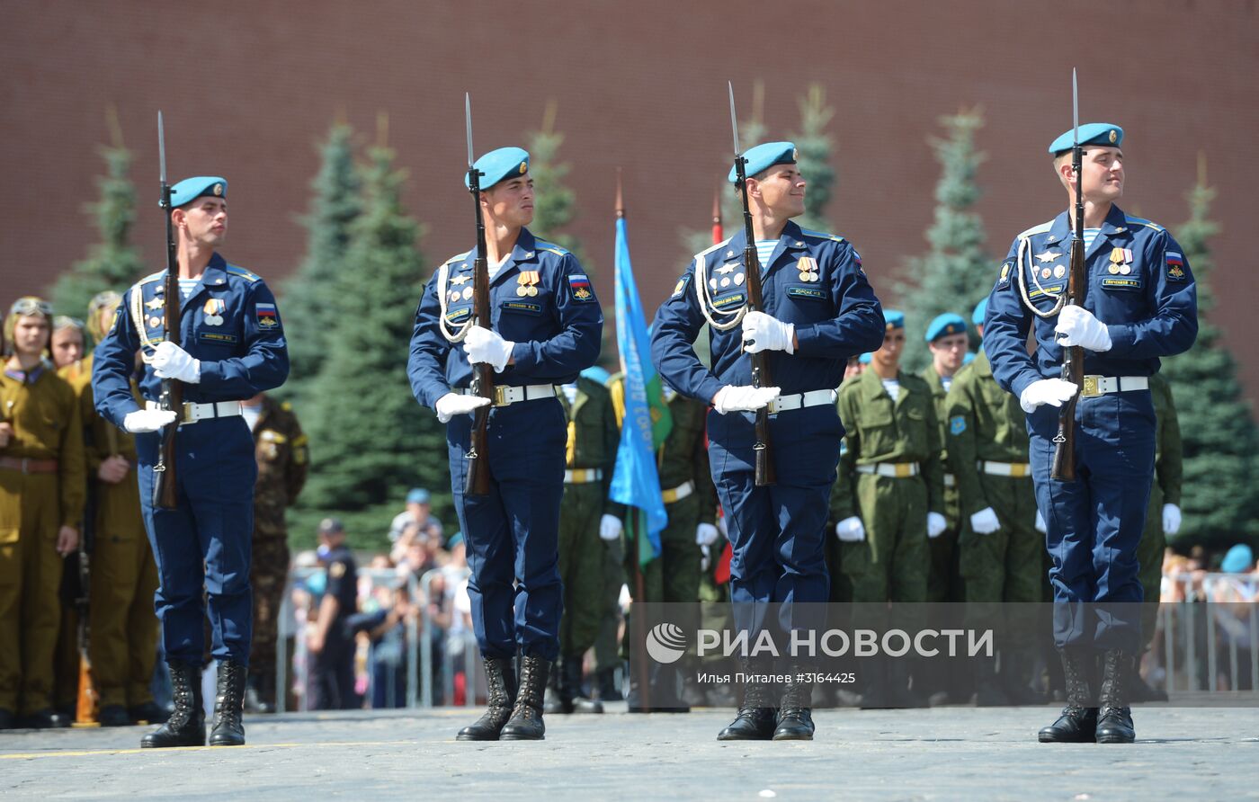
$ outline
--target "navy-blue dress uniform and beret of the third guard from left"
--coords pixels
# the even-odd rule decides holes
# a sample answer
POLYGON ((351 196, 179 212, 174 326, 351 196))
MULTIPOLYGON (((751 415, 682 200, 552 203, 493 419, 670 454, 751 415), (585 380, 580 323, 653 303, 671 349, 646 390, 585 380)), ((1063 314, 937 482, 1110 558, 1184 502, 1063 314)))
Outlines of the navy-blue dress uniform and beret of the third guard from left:
MULTIPOLYGON (((794 164, 794 146, 758 145, 745 157, 748 175, 755 176, 777 164, 794 164)), ((739 230, 696 254, 652 325, 656 370, 679 393, 704 404, 724 387, 752 384, 743 332, 738 326, 720 330, 747 306, 745 240, 739 230), (711 370, 692 346, 710 317, 720 324, 710 326, 711 370)), ((763 311, 793 324, 799 342, 792 354, 765 351, 773 384, 782 389, 769 414, 777 483, 755 486, 755 413, 713 409, 708 415, 709 463, 733 548, 730 601, 737 626, 752 631, 763 623, 755 612, 759 603, 827 601, 825 530, 844 437, 835 388, 847 359, 878 349, 884 336, 883 308, 861 257, 842 237, 788 222, 762 259, 760 281, 763 311), (752 618, 743 619, 749 613, 752 618)))

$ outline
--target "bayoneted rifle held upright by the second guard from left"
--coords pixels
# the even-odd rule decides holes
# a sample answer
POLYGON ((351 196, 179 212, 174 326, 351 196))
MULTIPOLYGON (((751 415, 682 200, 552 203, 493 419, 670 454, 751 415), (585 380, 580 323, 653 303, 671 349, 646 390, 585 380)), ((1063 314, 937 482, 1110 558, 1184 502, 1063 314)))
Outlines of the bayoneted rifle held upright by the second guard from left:
MULTIPOLYGON (((472 262, 472 320, 471 326, 488 329, 490 317, 490 267, 485 261, 485 218, 481 214, 481 171, 472 166, 472 98, 463 96, 463 117, 467 122, 468 140, 468 191, 476 206, 476 259, 472 262)), ((485 496, 490 492, 490 408, 494 404, 494 366, 486 363, 472 365, 472 394, 490 399, 490 404, 478 407, 472 417, 472 434, 468 443, 467 475, 463 481, 463 495, 485 496)))

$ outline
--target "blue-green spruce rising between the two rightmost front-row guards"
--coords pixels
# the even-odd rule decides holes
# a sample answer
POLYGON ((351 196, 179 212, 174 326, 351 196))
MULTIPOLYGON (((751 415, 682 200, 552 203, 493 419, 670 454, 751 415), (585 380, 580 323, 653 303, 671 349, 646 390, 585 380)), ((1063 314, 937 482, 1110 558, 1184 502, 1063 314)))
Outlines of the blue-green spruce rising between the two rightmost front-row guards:
MULTIPOLYGON (((973 210, 982 194, 976 175, 986 155, 976 150, 976 132, 983 127, 980 110, 963 110, 939 118, 947 136, 929 140, 940 178, 935 184, 935 218, 927 229, 930 248, 906 261, 908 280, 895 285, 905 311, 906 370, 918 371, 930 353, 923 336, 927 324, 943 312, 971 320, 974 305, 992 288, 995 266, 985 251, 983 220, 973 210)), ((972 344, 978 337, 972 331, 972 344)))

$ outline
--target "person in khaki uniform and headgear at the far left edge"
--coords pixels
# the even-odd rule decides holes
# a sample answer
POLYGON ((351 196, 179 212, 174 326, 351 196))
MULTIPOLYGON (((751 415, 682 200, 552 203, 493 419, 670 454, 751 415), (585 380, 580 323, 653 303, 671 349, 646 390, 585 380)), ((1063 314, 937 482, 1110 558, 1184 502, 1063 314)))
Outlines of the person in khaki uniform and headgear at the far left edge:
POLYGON ((52 307, 19 298, 0 376, 0 728, 67 721, 53 710, 62 558, 78 548, 83 432, 74 390, 44 355, 52 307))

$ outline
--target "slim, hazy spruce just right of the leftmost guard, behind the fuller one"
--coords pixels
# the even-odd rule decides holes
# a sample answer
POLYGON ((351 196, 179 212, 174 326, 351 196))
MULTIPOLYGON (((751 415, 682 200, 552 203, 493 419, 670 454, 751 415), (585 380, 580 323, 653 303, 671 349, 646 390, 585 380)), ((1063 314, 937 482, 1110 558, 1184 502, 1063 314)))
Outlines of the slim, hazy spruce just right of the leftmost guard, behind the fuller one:
POLYGON ((320 147, 320 170, 311 180, 311 203, 301 218, 306 257, 283 283, 281 310, 288 329, 288 381, 281 394, 303 409, 311 381, 329 355, 344 320, 340 276, 350 225, 363 210, 361 179, 354 164, 354 128, 336 122, 320 147))

